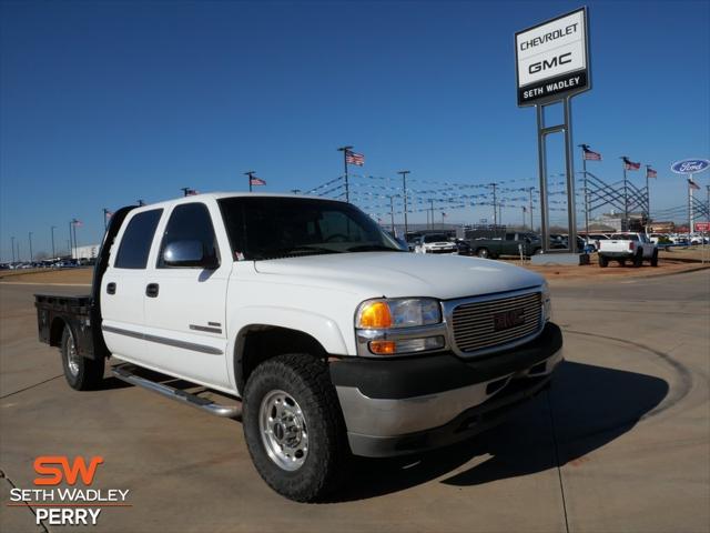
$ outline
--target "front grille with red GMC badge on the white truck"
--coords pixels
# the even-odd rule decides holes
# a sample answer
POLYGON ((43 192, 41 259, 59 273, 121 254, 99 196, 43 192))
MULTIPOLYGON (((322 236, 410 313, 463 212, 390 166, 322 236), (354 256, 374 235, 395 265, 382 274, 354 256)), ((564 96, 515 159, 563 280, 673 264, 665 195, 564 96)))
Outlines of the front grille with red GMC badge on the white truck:
POLYGON ((464 303, 454 308, 454 341, 462 352, 476 352, 515 342, 537 332, 540 293, 464 303))

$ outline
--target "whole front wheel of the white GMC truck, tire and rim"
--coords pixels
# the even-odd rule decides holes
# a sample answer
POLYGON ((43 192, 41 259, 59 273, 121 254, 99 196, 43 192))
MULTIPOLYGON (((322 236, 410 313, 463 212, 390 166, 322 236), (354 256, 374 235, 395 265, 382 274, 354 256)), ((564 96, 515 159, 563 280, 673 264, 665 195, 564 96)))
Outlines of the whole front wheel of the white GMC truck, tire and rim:
POLYGON ((312 502, 332 492, 349 452, 327 364, 308 354, 260 364, 244 391, 244 436, 256 470, 277 493, 312 502))

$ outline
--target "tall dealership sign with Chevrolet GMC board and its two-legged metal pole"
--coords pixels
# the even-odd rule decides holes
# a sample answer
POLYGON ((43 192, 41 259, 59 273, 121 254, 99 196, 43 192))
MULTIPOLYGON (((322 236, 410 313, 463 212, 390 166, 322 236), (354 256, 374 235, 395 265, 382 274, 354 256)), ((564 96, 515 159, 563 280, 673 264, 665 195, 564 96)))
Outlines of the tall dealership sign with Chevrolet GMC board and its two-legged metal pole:
POLYGON ((571 97, 591 88, 589 69, 589 28, 587 8, 557 17, 515 34, 518 107, 535 105, 540 174, 540 230, 542 251, 575 253, 577 221, 575 210, 575 169, 571 134, 571 97), (548 123, 545 109, 562 104, 562 123, 548 123), (565 134, 567 174, 567 250, 551 250, 547 190, 546 140, 551 133, 565 134))

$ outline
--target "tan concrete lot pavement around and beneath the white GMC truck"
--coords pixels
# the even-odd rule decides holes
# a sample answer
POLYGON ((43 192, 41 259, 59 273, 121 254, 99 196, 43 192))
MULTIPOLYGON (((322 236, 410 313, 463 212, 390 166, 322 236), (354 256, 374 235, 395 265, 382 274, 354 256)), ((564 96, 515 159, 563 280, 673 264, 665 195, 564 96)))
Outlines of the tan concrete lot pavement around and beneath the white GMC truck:
POLYGON ((101 455, 95 489, 129 490, 93 531, 707 532, 710 530, 710 273, 552 286, 566 362, 552 388, 471 442, 356 460, 328 503, 273 493, 240 422, 113 379, 63 380, 37 341, 32 294, 0 283, 0 531, 36 525, 8 506, 39 455, 101 455))

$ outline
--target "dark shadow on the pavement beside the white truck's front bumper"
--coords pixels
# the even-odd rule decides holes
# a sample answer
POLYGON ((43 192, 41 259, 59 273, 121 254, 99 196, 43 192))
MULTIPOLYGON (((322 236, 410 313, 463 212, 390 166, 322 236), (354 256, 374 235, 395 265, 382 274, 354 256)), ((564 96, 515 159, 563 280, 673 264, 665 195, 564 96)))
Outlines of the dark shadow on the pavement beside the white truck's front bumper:
POLYGON ((333 501, 402 491, 450 474, 474 459, 474 466, 442 483, 478 485, 541 472, 556 467, 558 461, 564 465, 582 460, 633 428, 668 391, 668 382, 651 375, 566 362, 549 391, 471 441, 406 457, 356 457, 349 479, 333 501))

